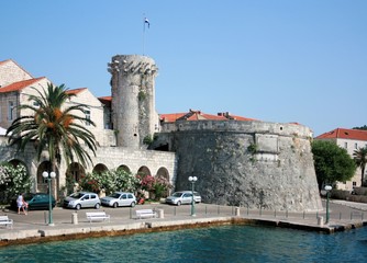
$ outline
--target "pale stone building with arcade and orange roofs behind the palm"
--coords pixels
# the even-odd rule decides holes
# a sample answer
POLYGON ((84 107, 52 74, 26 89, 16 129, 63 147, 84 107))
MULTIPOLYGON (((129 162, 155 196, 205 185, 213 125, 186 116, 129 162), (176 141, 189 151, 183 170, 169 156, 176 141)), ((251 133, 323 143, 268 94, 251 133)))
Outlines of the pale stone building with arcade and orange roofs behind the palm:
MULTIPOLYGON (((16 152, 14 147, 8 146, 8 138, 4 137, 3 132, 16 117, 26 115, 24 110, 19 110, 16 106, 32 103, 29 101, 30 94, 37 94, 35 89, 42 92, 42 89, 47 88, 47 83, 51 83, 47 78, 34 78, 11 59, 0 61, 0 128, 2 130, 0 134, 0 163, 23 163, 32 178, 33 192, 46 191, 47 185, 42 178, 42 172, 51 169, 47 153, 45 152, 38 161, 35 159, 32 146, 27 147, 24 152, 16 152)), ((130 149, 116 145, 119 130, 112 129, 111 96, 98 99, 87 88, 68 90, 67 92, 75 94, 68 102, 69 104, 77 103, 88 106, 86 117, 92 119, 96 126, 87 128, 96 136, 98 149, 96 157, 91 153, 93 163, 90 167, 82 167, 77 162, 68 167, 66 163, 62 163, 57 171, 57 178, 54 180, 55 196, 64 194, 62 190, 66 185, 67 176, 77 181, 87 172, 118 168, 134 174, 165 176, 171 184, 175 183, 176 155, 174 152, 149 151, 144 147, 130 149)), ((119 105, 115 107, 118 108, 119 105)))

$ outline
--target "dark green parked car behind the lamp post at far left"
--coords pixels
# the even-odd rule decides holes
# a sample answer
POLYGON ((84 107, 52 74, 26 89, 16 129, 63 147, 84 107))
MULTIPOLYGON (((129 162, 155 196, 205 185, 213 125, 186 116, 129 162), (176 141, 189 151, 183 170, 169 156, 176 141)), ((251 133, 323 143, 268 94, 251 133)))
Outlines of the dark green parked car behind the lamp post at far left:
MULTIPOLYGON (((23 196, 24 201, 29 204, 29 210, 48 209, 49 208, 49 195, 44 193, 27 193, 23 196)), ((52 207, 56 206, 54 196, 51 196, 52 207)), ((11 207, 18 209, 16 198, 12 199, 11 207)))

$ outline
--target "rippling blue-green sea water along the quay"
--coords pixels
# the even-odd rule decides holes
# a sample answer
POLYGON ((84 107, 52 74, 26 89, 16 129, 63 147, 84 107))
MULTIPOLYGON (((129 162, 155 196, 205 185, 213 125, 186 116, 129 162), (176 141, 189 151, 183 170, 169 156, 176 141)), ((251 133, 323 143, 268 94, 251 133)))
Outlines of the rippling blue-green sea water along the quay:
POLYGON ((367 228, 324 235, 223 226, 13 245, 0 262, 367 262, 367 228))

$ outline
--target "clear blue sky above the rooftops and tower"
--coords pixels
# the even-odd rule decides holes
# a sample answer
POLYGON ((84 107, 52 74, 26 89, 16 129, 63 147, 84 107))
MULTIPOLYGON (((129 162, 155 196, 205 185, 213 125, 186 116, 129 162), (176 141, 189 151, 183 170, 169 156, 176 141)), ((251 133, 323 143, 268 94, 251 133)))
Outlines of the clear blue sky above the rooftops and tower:
POLYGON ((0 60, 110 95, 111 57, 159 67, 158 113, 189 108, 315 135, 367 124, 366 0, 1 1, 0 60))

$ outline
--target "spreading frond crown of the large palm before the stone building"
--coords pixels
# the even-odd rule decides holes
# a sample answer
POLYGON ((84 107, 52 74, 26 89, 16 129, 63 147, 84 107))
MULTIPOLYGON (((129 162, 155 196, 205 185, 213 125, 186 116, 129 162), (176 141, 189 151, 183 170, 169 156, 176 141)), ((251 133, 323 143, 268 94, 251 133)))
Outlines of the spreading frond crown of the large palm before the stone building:
POLYGON ((56 87, 48 83, 47 92, 43 90, 43 93, 32 89, 37 92, 37 95, 29 98, 33 103, 19 106, 30 114, 14 119, 7 130, 10 145, 18 145, 18 150, 24 150, 29 142, 35 142, 38 161, 42 152, 48 151, 52 171, 56 171, 62 157, 67 164, 75 157, 82 165, 92 162, 81 144, 82 141, 96 156, 96 138, 84 125, 96 126, 86 117, 87 105, 65 105, 75 94, 68 93, 64 84, 56 87))

